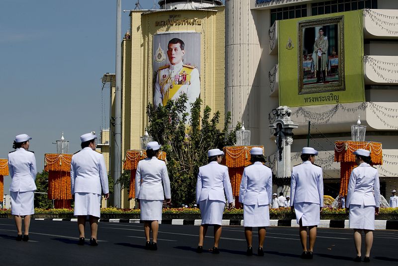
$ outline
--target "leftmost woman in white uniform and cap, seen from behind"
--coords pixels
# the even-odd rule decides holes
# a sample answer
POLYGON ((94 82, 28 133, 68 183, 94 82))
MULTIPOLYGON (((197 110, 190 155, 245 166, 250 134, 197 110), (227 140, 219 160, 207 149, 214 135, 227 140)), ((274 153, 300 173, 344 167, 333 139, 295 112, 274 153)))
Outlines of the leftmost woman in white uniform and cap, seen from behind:
POLYGON ((36 158, 33 151, 29 151, 27 134, 15 136, 12 147, 15 149, 8 154, 8 169, 11 177, 9 186, 11 196, 11 214, 14 215, 17 230, 17 241, 29 240, 30 215, 34 214, 34 191, 36 190, 36 158), (22 237, 22 217, 24 235, 22 237))

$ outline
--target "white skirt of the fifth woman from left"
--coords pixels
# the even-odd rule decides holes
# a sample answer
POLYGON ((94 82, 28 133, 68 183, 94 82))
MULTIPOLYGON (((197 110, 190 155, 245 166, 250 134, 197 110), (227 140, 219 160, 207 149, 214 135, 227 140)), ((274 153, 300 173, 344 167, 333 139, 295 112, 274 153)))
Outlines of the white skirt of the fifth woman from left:
POLYGON ((270 226, 269 205, 247 205, 243 204, 243 226, 263 227, 270 226))

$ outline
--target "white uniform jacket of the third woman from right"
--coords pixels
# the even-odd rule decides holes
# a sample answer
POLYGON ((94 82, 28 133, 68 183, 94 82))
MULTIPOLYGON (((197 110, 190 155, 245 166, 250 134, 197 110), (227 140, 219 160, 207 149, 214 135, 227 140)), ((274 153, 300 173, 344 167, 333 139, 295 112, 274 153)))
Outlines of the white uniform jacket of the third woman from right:
POLYGON ((245 167, 239 189, 239 202, 269 205, 272 199, 272 171, 261 162, 245 167))

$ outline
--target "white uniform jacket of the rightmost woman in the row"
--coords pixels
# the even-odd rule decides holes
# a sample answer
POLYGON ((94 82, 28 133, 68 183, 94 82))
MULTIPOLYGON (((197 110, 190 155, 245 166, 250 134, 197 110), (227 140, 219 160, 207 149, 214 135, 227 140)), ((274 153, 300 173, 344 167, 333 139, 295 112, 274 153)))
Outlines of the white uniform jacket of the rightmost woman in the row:
POLYGON ((380 207, 379 173, 368 163, 361 163, 351 172, 346 208, 350 204, 380 207))

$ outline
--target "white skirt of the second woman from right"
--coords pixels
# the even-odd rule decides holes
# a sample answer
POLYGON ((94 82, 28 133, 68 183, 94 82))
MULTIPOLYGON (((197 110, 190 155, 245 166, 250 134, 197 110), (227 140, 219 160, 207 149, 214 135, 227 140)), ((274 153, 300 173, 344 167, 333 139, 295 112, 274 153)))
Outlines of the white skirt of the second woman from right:
POLYGON ((319 204, 310 202, 295 203, 296 220, 299 224, 300 219, 302 226, 319 225, 320 212, 319 204))

